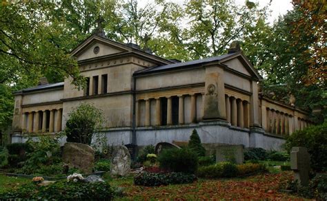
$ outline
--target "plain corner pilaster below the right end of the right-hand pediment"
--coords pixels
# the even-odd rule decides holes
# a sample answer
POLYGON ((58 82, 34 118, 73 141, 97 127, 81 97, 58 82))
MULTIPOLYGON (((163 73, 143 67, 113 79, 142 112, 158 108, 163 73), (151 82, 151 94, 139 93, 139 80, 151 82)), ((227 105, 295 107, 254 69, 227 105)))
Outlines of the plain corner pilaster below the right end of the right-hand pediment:
POLYGON ((259 91, 258 84, 256 81, 251 82, 251 92, 250 97, 250 126, 259 127, 259 91))

